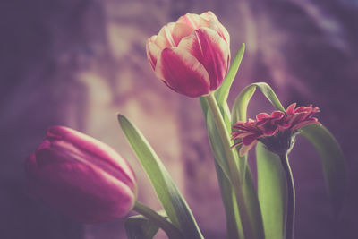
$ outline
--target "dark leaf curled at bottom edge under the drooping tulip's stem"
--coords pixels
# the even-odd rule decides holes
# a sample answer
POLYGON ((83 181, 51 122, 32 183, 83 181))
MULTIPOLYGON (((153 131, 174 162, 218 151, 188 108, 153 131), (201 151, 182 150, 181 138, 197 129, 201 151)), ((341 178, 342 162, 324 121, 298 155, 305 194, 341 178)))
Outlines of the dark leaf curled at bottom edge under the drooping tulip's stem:
POLYGON ((127 218, 124 228, 128 239, 152 239, 159 229, 155 223, 141 215, 127 218))

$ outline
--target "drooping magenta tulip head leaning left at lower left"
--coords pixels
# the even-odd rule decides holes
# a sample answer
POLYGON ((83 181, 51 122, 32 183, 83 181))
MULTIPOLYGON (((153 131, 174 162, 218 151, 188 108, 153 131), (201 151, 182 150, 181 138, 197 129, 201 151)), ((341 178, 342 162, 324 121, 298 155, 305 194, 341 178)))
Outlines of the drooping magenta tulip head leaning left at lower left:
POLYGON ((64 126, 47 129, 25 167, 33 196, 82 223, 123 218, 137 197, 135 175, 124 158, 64 126))

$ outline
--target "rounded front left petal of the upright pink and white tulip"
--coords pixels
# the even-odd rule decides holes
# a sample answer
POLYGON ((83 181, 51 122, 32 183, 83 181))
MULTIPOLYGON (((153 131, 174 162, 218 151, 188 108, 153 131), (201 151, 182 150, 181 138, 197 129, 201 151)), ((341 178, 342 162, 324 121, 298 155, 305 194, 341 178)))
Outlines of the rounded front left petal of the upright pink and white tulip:
POLYGON ((156 74, 185 96, 195 98, 210 92, 209 74, 204 66, 182 48, 165 48, 158 58, 156 74))

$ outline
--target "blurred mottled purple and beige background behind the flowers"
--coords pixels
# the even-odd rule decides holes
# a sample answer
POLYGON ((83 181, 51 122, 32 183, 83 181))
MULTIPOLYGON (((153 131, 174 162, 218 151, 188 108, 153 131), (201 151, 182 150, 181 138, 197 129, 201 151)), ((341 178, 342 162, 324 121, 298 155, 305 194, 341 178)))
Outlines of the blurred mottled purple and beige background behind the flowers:
MULTIPOLYGON (((82 226, 26 194, 23 163, 47 127, 70 126, 117 149, 134 167, 140 200, 160 209, 115 113, 127 115, 164 160, 206 238, 225 238, 224 209, 199 101, 169 90, 145 41, 184 13, 217 14, 232 54, 246 43, 229 104, 266 81, 287 107, 312 103, 345 151, 348 190, 335 222, 320 159, 303 138, 291 154, 297 239, 356 238, 358 2, 349 0, 33 0, 0 3, 0 238, 125 238, 124 220, 82 226)), ((271 111, 257 93, 250 115, 271 111)), ((165 238, 159 235, 158 238, 165 238)))

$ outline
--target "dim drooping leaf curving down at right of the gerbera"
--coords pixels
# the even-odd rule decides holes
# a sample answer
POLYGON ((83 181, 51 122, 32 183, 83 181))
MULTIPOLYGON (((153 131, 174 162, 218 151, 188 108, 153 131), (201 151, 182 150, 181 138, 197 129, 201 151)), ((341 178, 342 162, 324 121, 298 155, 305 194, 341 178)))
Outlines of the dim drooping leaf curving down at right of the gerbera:
POLYGON ((335 217, 343 207, 345 200, 345 156, 334 136, 319 124, 311 124, 301 129, 301 134, 311 141, 320 154, 323 174, 328 187, 335 217))

